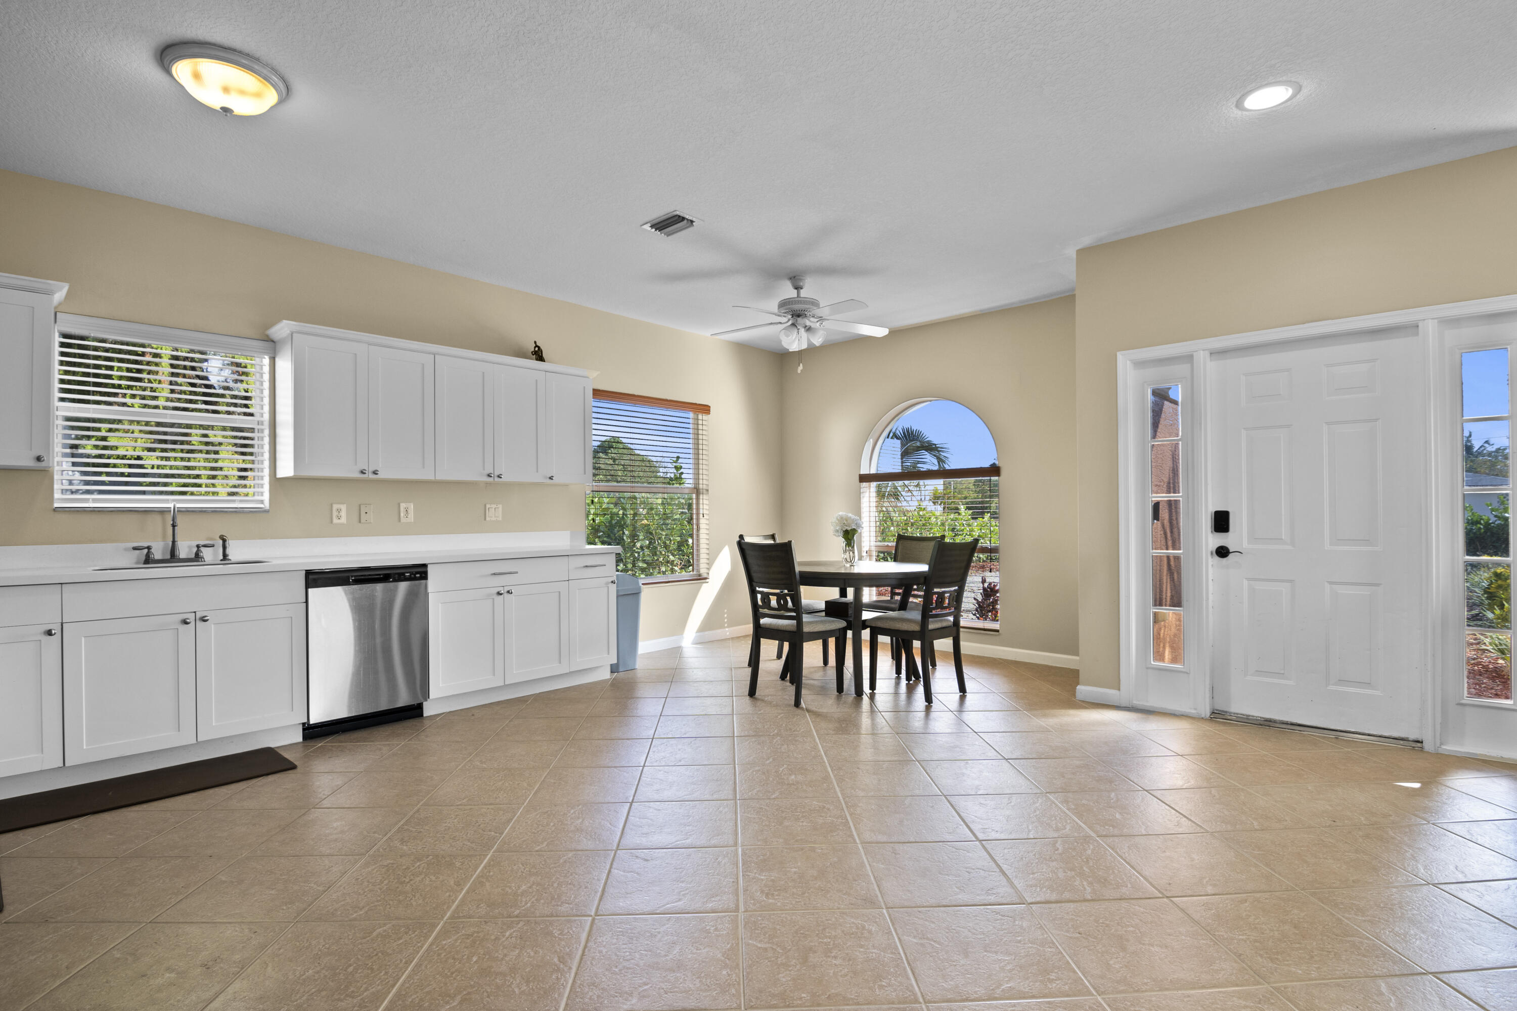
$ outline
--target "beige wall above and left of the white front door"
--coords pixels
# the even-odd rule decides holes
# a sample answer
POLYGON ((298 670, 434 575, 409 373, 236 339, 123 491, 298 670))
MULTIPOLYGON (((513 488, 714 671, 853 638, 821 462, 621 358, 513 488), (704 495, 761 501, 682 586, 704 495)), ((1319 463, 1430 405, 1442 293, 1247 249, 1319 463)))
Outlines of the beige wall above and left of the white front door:
POLYGON ((1080 681, 1118 687, 1117 352, 1517 293, 1517 149, 1079 252, 1080 681))

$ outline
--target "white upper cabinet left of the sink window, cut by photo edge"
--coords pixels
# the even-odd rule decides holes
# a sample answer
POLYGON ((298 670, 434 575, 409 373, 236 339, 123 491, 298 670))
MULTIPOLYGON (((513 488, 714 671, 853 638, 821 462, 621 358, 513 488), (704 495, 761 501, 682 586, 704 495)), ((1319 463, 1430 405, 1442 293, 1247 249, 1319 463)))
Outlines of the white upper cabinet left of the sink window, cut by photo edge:
POLYGON ((53 306, 67 291, 0 274, 0 467, 52 467, 53 306))

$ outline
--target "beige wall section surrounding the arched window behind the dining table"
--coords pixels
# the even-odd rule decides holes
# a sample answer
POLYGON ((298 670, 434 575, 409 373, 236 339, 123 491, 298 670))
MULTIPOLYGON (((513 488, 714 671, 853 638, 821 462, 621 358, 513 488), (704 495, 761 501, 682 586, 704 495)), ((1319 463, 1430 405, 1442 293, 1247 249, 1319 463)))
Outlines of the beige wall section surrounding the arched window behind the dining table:
POLYGON ((1074 299, 959 317, 784 356, 784 520, 802 556, 836 558, 828 524, 859 511, 874 426, 921 397, 957 400, 1001 464, 1001 631, 988 646, 1077 652, 1074 573, 1074 299))

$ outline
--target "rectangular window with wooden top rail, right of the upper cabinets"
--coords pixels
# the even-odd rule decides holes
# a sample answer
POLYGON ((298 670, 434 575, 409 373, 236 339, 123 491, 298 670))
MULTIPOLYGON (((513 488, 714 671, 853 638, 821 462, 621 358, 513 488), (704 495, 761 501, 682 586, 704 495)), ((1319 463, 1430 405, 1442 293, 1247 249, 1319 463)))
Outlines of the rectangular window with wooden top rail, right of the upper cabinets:
POLYGON ((704 403, 595 391, 586 543, 620 544, 623 573, 705 574, 710 414, 704 403))

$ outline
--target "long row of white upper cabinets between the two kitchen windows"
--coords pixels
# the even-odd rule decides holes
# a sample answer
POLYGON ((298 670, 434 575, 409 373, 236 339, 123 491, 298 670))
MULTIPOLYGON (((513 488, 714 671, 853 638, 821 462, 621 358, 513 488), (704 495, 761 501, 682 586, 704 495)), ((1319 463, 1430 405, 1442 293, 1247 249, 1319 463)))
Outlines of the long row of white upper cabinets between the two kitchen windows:
POLYGON ((590 479, 581 370, 281 323, 281 477, 590 479))

